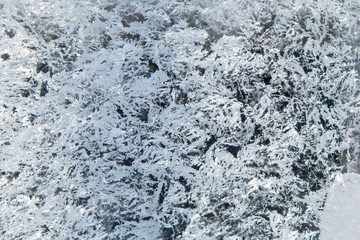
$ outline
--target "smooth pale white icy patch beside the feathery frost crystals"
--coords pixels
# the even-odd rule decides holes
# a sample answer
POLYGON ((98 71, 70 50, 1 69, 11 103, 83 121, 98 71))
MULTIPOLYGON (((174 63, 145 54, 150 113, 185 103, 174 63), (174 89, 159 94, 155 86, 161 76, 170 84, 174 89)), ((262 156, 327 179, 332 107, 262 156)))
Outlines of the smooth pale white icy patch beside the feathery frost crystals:
POLYGON ((344 174, 335 179, 321 216, 324 240, 356 240, 360 236, 360 175, 344 174))

